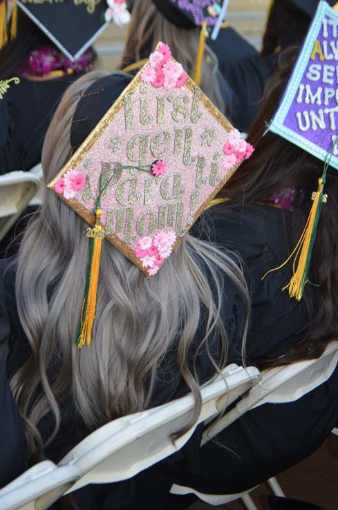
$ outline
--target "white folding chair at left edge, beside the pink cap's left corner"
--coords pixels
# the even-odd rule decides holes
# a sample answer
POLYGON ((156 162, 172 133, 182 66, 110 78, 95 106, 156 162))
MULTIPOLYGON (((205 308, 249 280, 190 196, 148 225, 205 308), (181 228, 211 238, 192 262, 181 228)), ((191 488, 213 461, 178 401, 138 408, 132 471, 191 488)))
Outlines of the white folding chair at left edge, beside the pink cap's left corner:
POLYGON ((35 196, 41 175, 35 171, 15 171, 0 176, 0 240, 35 196))

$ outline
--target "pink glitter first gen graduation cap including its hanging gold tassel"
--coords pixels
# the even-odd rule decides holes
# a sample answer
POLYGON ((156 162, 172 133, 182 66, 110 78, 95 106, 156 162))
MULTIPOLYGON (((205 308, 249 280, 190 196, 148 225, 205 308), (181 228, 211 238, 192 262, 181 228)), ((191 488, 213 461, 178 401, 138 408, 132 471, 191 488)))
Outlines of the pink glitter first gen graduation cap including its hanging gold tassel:
POLYGON ((129 79, 110 75, 84 93, 71 130, 75 153, 48 184, 90 225, 80 347, 91 342, 102 240, 144 277, 158 278, 182 236, 253 151, 167 44, 158 44, 129 79))

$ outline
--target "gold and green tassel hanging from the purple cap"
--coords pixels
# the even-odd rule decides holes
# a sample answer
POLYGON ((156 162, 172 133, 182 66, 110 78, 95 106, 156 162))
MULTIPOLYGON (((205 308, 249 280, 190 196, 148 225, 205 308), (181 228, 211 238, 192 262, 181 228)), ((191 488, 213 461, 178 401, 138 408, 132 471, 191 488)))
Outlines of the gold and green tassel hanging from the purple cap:
POLYGON ((301 234, 301 238, 299 239, 297 246, 294 248, 292 254, 283 264, 281 264, 279 267, 275 267, 270 271, 267 271, 267 273, 265 273, 262 278, 263 280, 267 274, 280 270, 281 267, 285 266, 285 264, 287 264, 294 257, 292 265, 292 278, 290 279, 288 285, 285 285, 282 290, 288 289, 289 296, 297 299, 297 301, 300 301, 303 297, 304 287, 306 286, 306 283, 308 283, 308 270, 310 266, 314 240, 317 234, 317 227, 321 214, 321 205, 323 202, 326 203, 327 201, 327 196, 323 195, 323 177, 318 180, 318 183, 318 190, 312 193, 313 204, 308 216, 308 220, 306 222, 306 226, 303 230, 303 234, 301 234))

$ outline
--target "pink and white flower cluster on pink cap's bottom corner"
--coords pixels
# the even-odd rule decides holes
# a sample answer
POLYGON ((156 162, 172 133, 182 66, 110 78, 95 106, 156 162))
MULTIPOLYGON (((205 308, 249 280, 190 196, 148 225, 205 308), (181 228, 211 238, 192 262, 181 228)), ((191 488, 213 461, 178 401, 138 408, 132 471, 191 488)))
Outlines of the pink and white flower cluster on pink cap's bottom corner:
POLYGON ((154 276, 169 257, 176 239, 177 236, 171 229, 140 238, 135 248, 135 256, 140 258, 144 268, 148 268, 149 276, 154 276))

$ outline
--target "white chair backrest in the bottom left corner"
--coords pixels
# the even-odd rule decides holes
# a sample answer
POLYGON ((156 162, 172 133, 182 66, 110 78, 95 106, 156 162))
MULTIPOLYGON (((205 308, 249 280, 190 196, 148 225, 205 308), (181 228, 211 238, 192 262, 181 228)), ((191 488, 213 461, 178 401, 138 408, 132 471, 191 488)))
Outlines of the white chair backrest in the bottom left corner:
POLYGON ((77 480, 76 466, 44 460, 0 490, 0 510, 45 510, 77 480))

